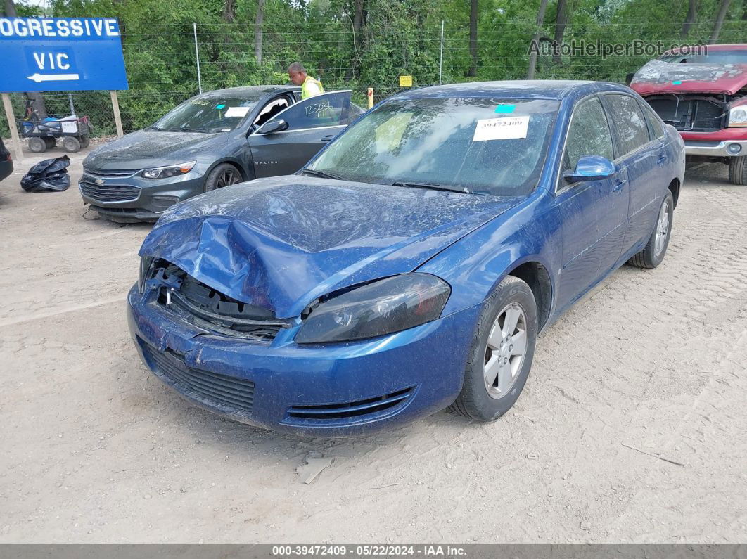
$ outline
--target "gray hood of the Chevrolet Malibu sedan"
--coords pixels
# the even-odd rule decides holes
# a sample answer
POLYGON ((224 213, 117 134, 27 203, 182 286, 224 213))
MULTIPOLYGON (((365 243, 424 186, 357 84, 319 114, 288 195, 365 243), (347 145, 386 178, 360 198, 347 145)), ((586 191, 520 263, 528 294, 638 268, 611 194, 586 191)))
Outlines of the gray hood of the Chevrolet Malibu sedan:
POLYGON ((220 141, 222 134, 139 130, 90 152, 84 166, 91 169, 146 169, 195 160, 199 152, 220 141))

